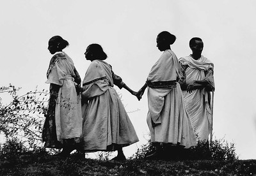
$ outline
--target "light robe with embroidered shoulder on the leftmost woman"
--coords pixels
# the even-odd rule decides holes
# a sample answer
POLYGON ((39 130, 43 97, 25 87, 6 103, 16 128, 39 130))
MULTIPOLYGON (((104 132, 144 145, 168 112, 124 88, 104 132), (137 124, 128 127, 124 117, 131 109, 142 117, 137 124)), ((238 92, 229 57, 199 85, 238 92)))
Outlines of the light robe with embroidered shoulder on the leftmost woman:
POLYGON ((55 119, 57 140, 79 138, 82 133, 81 96, 77 96, 74 82, 74 62, 65 54, 56 59, 49 73, 47 84, 60 85, 56 99, 55 119))

